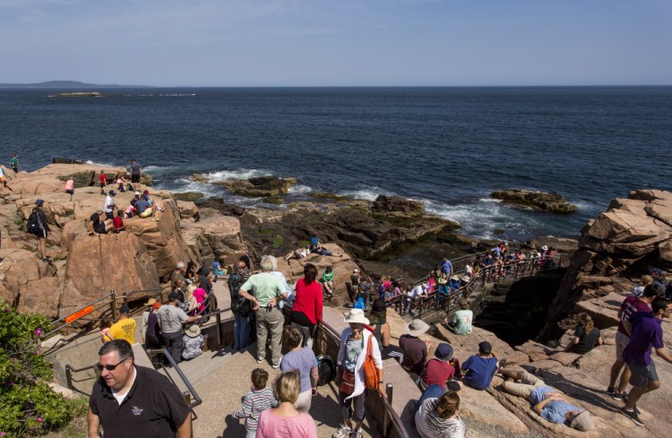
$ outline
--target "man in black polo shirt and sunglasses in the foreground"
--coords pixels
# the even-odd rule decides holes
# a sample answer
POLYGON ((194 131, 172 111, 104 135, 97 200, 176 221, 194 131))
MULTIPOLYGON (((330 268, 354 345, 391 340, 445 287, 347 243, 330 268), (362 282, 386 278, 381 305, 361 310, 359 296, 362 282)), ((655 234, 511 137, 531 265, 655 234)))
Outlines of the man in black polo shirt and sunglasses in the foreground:
POLYGON ((100 378, 89 400, 89 437, 191 438, 191 412, 177 387, 134 365, 133 348, 114 339, 99 350, 100 378))

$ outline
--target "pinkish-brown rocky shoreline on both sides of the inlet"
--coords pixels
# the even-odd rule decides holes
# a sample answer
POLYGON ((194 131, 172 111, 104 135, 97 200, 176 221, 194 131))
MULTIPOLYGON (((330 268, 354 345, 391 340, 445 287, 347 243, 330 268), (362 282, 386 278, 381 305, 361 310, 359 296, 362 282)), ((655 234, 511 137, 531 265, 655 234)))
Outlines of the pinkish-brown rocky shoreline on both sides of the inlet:
MULTIPOLYGON (((438 252, 450 255, 448 247, 455 251, 478 248, 478 242, 458 234, 457 224, 428 215, 422 205, 399 198, 359 202, 324 196, 316 197, 315 202, 289 204, 283 210, 243 209, 212 199, 183 201, 173 193, 154 191, 144 184, 142 188, 150 190, 152 198, 165 208, 158 221, 128 219, 122 233, 90 236, 86 221, 104 199, 99 187, 90 182, 103 168, 110 176, 125 172, 116 167, 56 163, 14 176, 4 168, 7 188, 0 188, 0 257, 4 259, 0 263, 0 297, 19 311, 44 313, 51 318, 63 316, 107 295, 111 288, 120 293, 165 289, 178 261, 207 264, 223 257, 231 263, 243 253, 280 255, 279 271, 290 280, 301 277, 306 262, 313 262, 320 270, 332 266, 338 285, 338 297, 332 305, 340 305, 345 296, 344 282, 355 267, 374 274, 392 273, 391 248, 394 253, 426 249, 428 260, 435 257, 434 261, 439 260, 438 252), (64 182, 68 178, 75 181, 72 196, 65 193, 64 182), (52 263, 39 260, 36 239, 25 231, 26 219, 38 199, 44 201, 52 228, 47 239, 52 263), (289 262, 281 258, 313 235, 320 236, 332 253, 342 256, 311 254, 289 262), (429 250, 437 242, 446 246, 429 250)), ((118 193, 115 201, 126 205, 131 197, 132 193, 118 193)), ((535 371, 579 406, 589 409, 598 427, 590 433, 578 433, 562 425, 549 425, 531 412, 529 402, 498 391, 498 381, 487 392, 465 392, 465 415, 479 424, 503 427, 512 435, 533 430, 549 437, 667 436, 668 412, 672 408, 667 377, 672 377, 672 365, 657 361, 663 385, 642 399, 646 427, 636 427, 621 415, 620 405, 609 399, 604 390, 607 369, 614 359, 620 301, 650 268, 672 269, 672 193, 633 191, 627 199, 614 200, 609 210, 590 221, 582 229, 578 244, 562 239, 555 244, 550 239, 547 242, 563 246, 573 256, 536 340, 512 348, 490 331, 476 329, 470 336, 456 337, 440 325, 432 340, 450 341, 460 356, 473 353, 479 340, 491 341, 495 351, 507 356, 510 364, 535 371), (563 352, 576 312, 590 313, 606 339, 605 345, 583 356, 563 352), (482 412, 480 408, 484 406, 493 410, 482 412), (507 417, 511 415, 517 419, 507 417)), ((480 249, 487 249, 487 245, 480 249)), ((421 268, 426 270, 426 266, 421 268)), ((555 290, 536 292, 554 294, 555 290)), ((134 301, 140 305, 147 295, 155 294, 136 294, 134 301)), ((517 305, 524 306, 524 301, 522 294, 517 305)), ((503 309, 507 310, 510 309, 503 309)), ((398 338, 403 324, 401 318, 394 324, 397 329, 393 337, 398 338)), ((502 330, 516 328, 512 324, 502 330)), ((663 322, 663 330, 670 347, 670 322, 663 322)), ((528 337, 536 335, 530 332, 528 337)))

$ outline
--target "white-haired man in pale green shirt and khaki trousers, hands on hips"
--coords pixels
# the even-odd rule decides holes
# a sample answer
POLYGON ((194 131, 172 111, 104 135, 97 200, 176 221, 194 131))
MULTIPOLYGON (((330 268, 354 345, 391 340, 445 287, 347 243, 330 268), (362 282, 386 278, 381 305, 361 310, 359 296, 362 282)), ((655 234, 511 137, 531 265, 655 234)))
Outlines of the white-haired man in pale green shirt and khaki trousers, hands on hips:
POLYGON ((271 331, 271 366, 280 367, 280 340, 285 317, 278 303, 287 298, 285 285, 273 271, 273 257, 262 257, 262 272, 246 280, 238 290, 238 295, 252 301, 256 314, 257 364, 266 357, 266 338, 271 331))

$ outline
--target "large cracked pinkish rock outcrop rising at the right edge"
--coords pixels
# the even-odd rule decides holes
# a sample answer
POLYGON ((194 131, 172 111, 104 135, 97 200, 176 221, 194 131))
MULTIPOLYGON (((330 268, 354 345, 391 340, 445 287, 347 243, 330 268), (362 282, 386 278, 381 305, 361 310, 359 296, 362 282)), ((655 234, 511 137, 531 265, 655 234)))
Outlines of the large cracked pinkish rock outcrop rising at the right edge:
POLYGON ((635 190, 627 199, 612 201, 607 211, 590 221, 582 229, 579 249, 573 253, 540 338, 560 336, 562 321, 574 311, 592 314, 601 326, 615 324, 616 307, 595 299, 626 294, 635 284, 633 279, 651 267, 672 268, 671 212, 672 193, 635 190))

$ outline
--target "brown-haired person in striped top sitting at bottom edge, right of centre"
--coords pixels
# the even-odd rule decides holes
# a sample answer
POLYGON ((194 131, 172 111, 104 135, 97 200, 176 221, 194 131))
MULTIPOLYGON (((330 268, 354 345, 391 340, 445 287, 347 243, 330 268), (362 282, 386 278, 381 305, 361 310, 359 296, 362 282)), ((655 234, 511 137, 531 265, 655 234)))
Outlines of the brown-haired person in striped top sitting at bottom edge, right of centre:
POLYGON ((454 391, 425 399, 414 417, 418 434, 422 438, 464 438, 467 426, 460 418, 459 409, 460 396, 454 391))

